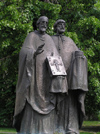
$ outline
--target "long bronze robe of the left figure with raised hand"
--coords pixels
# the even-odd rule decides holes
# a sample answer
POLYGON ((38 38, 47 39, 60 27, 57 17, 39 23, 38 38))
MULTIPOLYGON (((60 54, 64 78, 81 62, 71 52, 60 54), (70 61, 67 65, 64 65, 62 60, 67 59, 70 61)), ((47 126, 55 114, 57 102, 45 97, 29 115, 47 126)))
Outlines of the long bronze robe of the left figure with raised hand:
POLYGON ((53 134, 56 129, 55 95, 49 92, 51 77, 46 57, 58 55, 52 38, 31 32, 19 55, 14 127, 19 134, 53 134), (35 57, 38 46, 43 52, 35 57))

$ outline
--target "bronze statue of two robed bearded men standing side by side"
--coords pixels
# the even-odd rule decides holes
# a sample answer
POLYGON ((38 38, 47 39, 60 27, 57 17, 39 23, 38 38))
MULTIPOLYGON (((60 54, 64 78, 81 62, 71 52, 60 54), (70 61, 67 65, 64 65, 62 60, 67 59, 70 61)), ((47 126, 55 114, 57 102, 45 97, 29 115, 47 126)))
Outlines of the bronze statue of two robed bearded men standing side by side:
POLYGON ((18 134, 79 134, 85 116, 87 60, 63 35, 65 21, 46 34, 48 18, 26 37, 19 54, 13 125, 18 134), (41 45, 42 44, 42 45, 41 45))

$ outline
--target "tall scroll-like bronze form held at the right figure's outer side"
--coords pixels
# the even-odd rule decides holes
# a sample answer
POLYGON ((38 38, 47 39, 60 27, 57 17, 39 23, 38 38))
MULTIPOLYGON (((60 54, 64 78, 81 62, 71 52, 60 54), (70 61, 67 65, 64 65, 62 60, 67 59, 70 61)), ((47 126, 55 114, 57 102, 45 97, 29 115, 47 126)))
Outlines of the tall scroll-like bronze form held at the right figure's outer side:
POLYGON ((75 51, 72 56, 69 74, 69 89, 88 91, 87 59, 82 51, 75 51))

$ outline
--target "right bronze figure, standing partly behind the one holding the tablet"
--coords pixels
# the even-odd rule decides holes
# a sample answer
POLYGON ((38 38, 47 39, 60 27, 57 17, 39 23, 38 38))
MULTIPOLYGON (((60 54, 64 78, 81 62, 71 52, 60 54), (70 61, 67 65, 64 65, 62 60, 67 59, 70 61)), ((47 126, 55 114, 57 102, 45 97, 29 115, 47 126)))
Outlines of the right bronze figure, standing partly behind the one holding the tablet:
POLYGON ((52 36, 58 53, 62 57, 68 81, 68 95, 60 102, 57 126, 63 134, 79 134, 85 116, 84 99, 87 87, 87 60, 73 40, 63 35, 65 21, 54 24, 56 35, 52 36))

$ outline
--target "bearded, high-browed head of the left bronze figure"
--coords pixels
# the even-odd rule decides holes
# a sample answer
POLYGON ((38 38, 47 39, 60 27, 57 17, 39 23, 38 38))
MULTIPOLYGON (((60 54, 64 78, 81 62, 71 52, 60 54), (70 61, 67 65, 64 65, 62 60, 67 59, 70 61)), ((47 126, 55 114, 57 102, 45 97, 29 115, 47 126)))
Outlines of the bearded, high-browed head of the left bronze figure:
POLYGON ((48 18, 46 16, 41 16, 37 20, 37 28, 39 29, 40 33, 45 33, 48 26, 48 18))

